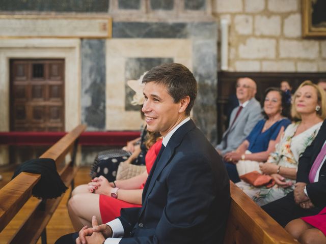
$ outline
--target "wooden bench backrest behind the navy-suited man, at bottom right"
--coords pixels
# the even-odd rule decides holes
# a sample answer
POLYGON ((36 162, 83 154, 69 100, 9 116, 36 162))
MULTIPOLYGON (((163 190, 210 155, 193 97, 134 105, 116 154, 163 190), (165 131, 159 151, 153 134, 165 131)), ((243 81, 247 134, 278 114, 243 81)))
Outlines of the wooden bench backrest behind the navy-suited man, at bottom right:
POLYGON ((231 208, 225 244, 298 243, 231 181, 230 190, 231 208))

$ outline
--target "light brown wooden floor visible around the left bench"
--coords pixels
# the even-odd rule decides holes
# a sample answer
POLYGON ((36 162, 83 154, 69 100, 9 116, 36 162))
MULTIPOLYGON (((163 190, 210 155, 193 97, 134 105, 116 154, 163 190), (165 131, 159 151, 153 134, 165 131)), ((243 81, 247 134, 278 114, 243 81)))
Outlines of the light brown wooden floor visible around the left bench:
MULTIPOLYGON (((89 176, 89 167, 80 168, 75 177, 75 186, 81 184, 87 184, 90 181, 89 176)), ((13 172, 5 172, 1 173, 4 177, 2 181, 0 181, 0 188, 7 184, 7 182, 11 179, 13 172)), ((55 214, 52 216, 50 222, 46 228, 47 234, 47 243, 54 243, 60 236, 67 234, 69 232, 74 232, 72 224, 70 222, 68 211, 67 211, 67 201, 70 195, 71 189, 69 188, 65 193, 59 207, 57 208, 55 214)), ((29 215, 35 206, 38 199, 32 197, 18 212, 15 218, 9 223, 9 225, 0 233, 0 244, 7 243, 10 237, 15 233, 17 228, 20 226, 24 218, 29 215)), ((39 239, 37 243, 41 244, 41 240, 39 239)))

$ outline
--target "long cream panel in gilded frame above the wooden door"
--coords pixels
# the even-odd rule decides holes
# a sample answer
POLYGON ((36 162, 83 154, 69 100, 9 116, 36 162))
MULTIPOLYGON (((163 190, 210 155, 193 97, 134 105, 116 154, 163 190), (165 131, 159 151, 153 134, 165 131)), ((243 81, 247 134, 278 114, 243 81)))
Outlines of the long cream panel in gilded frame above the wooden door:
POLYGON ((112 37, 107 16, 0 15, 0 26, 0 39, 112 37))

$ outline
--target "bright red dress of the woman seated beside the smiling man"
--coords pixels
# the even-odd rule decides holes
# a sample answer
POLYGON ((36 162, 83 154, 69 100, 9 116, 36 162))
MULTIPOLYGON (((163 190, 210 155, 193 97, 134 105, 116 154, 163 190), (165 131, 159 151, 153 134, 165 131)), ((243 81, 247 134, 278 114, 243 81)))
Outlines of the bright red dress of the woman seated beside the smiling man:
MULTIPOLYGON (((156 156, 159 153, 159 150, 161 149, 162 140, 156 141, 147 151, 146 157, 145 157, 145 163, 146 163, 146 170, 147 173, 151 170, 156 156)), ((145 182, 142 184, 140 189, 143 189, 145 185, 145 182)), ((125 202, 113 197, 109 197, 106 195, 100 195, 99 200, 100 205, 100 213, 102 218, 102 223, 110 222, 117 217, 120 216, 120 210, 121 208, 125 207, 141 207, 142 205, 139 204, 132 204, 129 202, 125 202)))

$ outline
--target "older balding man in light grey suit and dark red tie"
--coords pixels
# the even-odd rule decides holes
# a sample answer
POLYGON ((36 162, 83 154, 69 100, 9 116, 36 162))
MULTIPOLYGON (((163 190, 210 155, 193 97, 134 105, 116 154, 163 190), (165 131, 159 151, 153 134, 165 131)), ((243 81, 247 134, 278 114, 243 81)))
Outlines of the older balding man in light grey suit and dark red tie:
POLYGON ((237 80, 236 97, 240 105, 233 109, 229 128, 224 132, 221 143, 215 147, 220 155, 235 150, 262 118, 260 104, 255 99, 256 92, 257 86, 252 79, 237 80))

